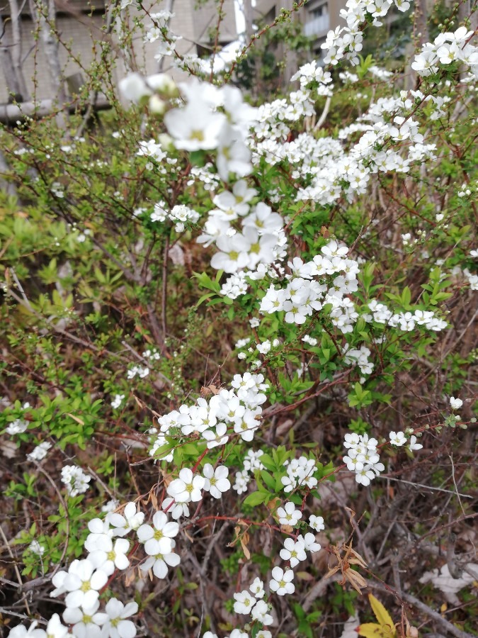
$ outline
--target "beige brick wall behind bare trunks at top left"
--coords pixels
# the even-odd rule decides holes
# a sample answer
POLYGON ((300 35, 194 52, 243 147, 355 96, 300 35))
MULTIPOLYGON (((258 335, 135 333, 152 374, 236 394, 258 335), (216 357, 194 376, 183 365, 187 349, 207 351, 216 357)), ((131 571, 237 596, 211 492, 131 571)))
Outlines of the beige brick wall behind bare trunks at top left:
MULTIPOLYGON (((8 21, 8 3, 0 9, 0 15, 4 20, 4 35, 0 40, 0 47, 11 48, 11 23, 8 21)), ((101 2, 96 0, 96 6, 101 2)), ((58 4, 57 4, 58 6, 58 4)), ((115 37, 111 40, 105 36, 101 30, 104 24, 103 11, 96 11, 89 15, 88 11, 79 11, 81 7, 86 8, 86 0, 70 0, 62 4, 64 10, 57 13, 57 31, 63 44, 59 46, 59 57, 63 69, 64 77, 81 73, 85 78, 89 74, 89 67, 93 60, 98 60, 101 53, 101 41, 109 39, 116 49, 113 55, 116 61, 116 68, 113 71, 113 81, 118 84, 118 80, 124 77, 130 70, 131 62, 137 70, 148 74, 158 72, 159 62, 154 60, 158 43, 144 43, 142 35, 138 30, 133 38, 132 55, 123 55, 115 44, 115 37), (73 13, 68 13, 67 9, 72 6, 73 13), (65 46, 66 45, 66 46, 65 46)), ((150 2, 144 5, 152 13, 166 9, 166 2, 150 2)), ((232 42, 237 37, 236 21, 234 16, 233 0, 224 1, 225 18, 221 23, 219 44, 224 45, 232 42)), ((181 54, 198 53, 198 50, 205 53, 212 45, 208 30, 217 26, 217 9, 213 0, 203 5, 200 9, 195 9, 195 0, 175 0, 173 2, 173 13, 175 16, 170 23, 171 31, 176 35, 181 35, 182 40, 178 41, 176 49, 181 54)), ((132 6, 124 13, 124 28, 134 28, 135 17, 141 17, 144 25, 149 25, 152 21, 147 16, 140 16, 132 6)), ((42 43, 40 39, 35 39, 35 23, 28 13, 28 3, 25 4, 20 21, 21 47, 23 59, 23 76, 27 83, 30 98, 37 100, 53 99, 52 82, 50 70, 47 65, 42 43)), ((164 60, 164 71, 171 71, 170 60, 164 60)), ((172 71, 176 79, 185 77, 181 72, 172 71)), ((5 69, 0 69, 0 103, 6 103, 10 98, 7 86, 5 69)))

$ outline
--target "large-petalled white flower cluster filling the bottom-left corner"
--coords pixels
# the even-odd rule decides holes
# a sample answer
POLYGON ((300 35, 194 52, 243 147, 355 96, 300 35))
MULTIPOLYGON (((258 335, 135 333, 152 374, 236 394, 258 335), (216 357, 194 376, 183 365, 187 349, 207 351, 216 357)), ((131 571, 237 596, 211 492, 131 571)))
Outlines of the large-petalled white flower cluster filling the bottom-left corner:
POLYGON ((124 571, 130 566, 127 554, 130 541, 125 539, 131 531, 137 533, 137 539, 144 544, 149 556, 140 569, 148 571, 151 567, 159 578, 166 572, 161 569, 165 564, 177 565, 179 557, 172 553, 175 542, 173 537, 178 533, 178 524, 167 522, 162 512, 153 517, 154 527, 142 525, 144 513, 137 511, 135 503, 127 503, 123 515, 108 513, 105 520, 95 518, 88 524, 90 533, 84 547, 88 557, 74 560, 67 571, 57 571, 52 578, 55 589, 50 593, 52 598, 64 595, 62 617, 66 625, 72 625, 72 633, 62 625, 59 615, 51 617, 46 630, 35 629, 36 622, 27 630, 23 625, 14 627, 10 637, 22 638, 134 638, 137 632, 135 623, 128 618, 138 610, 137 603, 126 605, 117 598, 110 598, 103 611, 100 611, 100 595, 106 588, 108 578, 116 571, 124 571), (154 552, 154 554, 153 554, 154 552), (161 552, 161 555, 159 556, 161 552), (171 558, 176 556, 176 559, 171 558), (152 561, 151 561, 152 559, 152 561))

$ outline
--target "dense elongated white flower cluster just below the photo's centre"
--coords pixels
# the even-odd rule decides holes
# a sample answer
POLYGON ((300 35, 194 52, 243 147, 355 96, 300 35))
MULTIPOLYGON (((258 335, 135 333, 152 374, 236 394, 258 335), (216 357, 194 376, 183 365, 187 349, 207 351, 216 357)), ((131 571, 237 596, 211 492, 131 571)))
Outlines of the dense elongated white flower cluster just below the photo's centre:
MULTIPOLYGON (((207 441, 212 449, 224 445, 229 436, 235 433, 244 441, 251 441, 260 425, 262 408, 266 401, 263 393, 268 387, 264 384, 263 374, 236 374, 230 390, 222 389, 207 401, 200 397, 194 405, 181 405, 179 410, 161 416, 157 429, 150 430, 155 435, 149 454, 155 457, 157 449, 167 444, 166 436, 192 435, 196 432, 207 441)), ((172 461, 173 454, 157 457, 158 460, 172 461)))

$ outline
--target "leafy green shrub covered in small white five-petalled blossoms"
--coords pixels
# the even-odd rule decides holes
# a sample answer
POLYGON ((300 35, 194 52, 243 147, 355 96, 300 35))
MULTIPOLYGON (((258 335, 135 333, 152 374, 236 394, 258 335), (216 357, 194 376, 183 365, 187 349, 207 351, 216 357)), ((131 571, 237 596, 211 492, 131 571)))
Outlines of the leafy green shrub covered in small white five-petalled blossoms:
POLYGON ((360 57, 410 4, 259 103, 144 10, 188 82, 4 130, 6 634, 476 635, 478 49, 360 57))

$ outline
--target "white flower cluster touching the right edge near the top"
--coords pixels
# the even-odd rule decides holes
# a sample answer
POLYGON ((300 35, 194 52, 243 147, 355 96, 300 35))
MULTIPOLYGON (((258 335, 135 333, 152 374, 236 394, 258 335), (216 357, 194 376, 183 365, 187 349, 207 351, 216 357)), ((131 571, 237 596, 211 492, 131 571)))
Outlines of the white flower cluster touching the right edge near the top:
POLYGON ((470 67, 474 77, 478 77, 478 47, 470 43, 474 32, 462 26, 455 33, 440 33, 433 43, 426 43, 416 55, 411 68, 422 77, 438 73, 439 65, 448 66, 461 62, 470 67))

